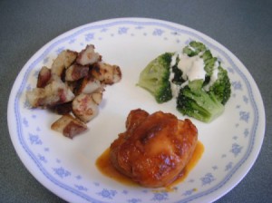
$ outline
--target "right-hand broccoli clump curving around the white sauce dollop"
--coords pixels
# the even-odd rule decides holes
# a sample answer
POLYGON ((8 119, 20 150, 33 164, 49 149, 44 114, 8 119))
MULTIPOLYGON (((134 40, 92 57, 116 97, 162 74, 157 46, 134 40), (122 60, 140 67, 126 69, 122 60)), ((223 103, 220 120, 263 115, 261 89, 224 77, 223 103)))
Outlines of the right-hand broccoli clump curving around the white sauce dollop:
POLYGON ((180 89, 177 109, 182 114, 199 121, 213 121, 223 113, 224 105, 230 97, 228 72, 221 67, 218 59, 212 56, 203 43, 191 42, 183 49, 183 53, 189 56, 199 54, 205 64, 206 76, 205 81, 192 81, 180 89), (216 67, 216 64, 219 66, 216 67))

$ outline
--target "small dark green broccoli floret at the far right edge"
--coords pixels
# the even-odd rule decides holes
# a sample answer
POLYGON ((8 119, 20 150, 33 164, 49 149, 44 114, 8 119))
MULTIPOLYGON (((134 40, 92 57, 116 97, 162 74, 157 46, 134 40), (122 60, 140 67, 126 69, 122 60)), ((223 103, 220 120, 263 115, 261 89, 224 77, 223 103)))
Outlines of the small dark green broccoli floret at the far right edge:
POLYGON ((209 87, 209 93, 214 94, 219 102, 225 105, 231 94, 231 84, 225 69, 219 66, 218 72, 218 79, 209 87))

